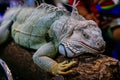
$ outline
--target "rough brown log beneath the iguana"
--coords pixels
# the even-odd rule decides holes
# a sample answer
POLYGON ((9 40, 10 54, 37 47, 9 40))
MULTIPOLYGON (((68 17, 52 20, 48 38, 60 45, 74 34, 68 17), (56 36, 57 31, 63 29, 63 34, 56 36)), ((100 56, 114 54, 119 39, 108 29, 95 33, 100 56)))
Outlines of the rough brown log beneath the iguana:
POLYGON ((10 41, 0 46, 0 57, 8 64, 14 80, 120 80, 120 62, 105 55, 86 53, 74 59, 57 56, 58 62, 78 61, 74 72, 53 77, 33 63, 35 50, 18 46, 10 41))

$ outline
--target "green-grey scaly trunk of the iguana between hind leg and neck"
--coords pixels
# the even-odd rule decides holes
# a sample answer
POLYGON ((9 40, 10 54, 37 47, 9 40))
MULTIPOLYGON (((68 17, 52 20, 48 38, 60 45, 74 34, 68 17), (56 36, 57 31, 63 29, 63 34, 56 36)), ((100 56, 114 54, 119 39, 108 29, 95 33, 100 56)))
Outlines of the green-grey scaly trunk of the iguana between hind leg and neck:
POLYGON ((47 4, 42 4, 39 8, 21 8, 12 25, 15 42, 32 49, 45 44, 50 26, 63 15, 62 11, 55 9, 58 8, 47 4))

